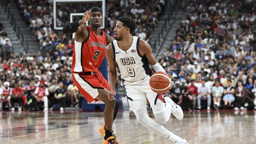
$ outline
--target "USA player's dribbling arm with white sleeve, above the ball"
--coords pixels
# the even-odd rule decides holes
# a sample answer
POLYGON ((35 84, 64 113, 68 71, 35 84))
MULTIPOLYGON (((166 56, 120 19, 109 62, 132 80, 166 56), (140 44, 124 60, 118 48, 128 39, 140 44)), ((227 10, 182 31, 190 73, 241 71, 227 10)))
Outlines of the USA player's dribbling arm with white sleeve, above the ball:
POLYGON ((165 73, 164 68, 156 61, 149 43, 143 39, 139 39, 139 53, 146 56, 155 72, 162 71, 165 73))

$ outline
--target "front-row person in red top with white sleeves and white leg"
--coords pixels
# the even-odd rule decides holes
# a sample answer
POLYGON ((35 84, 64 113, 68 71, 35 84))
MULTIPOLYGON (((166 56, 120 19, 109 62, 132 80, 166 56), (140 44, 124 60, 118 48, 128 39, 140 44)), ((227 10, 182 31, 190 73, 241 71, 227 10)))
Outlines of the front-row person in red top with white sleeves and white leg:
POLYGON ((48 111, 48 95, 49 91, 47 87, 45 87, 44 81, 40 81, 39 87, 36 88, 34 92, 34 98, 36 98, 37 102, 44 102, 44 111, 48 111))

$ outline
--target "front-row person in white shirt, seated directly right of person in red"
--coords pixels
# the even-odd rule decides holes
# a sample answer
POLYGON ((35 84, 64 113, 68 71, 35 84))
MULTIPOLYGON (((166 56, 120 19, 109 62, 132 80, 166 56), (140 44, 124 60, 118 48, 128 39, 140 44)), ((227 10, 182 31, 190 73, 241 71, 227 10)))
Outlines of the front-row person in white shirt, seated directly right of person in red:
POLYGON ((201 99, 206 100, 207 99, 207 110, 210 110, 210 103, 211 103, 211 90, 210 87, 206 86, 206 82, 204 79, 202 79, 202 86, 197 89, 197 106, 198 109, 201 110, 201 99))

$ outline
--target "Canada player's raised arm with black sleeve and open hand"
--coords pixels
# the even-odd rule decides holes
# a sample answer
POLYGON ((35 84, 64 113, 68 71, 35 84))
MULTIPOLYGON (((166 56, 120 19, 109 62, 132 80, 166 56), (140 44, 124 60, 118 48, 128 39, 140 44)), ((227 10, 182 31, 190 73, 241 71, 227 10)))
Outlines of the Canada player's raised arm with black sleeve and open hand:
POLYGON ((81 33, 83 31, 83 28, 81 27, 81 25, 86 23, 86 21, 89 20, 90 15, 91 15, 91 10, 86 11, 83 15, 82 20, 79 20, 79 21, 76 21, 76 22, 71 22, 68 25, 65 25, 62 28, 63 33, 74 33, 74 32, 81 33))

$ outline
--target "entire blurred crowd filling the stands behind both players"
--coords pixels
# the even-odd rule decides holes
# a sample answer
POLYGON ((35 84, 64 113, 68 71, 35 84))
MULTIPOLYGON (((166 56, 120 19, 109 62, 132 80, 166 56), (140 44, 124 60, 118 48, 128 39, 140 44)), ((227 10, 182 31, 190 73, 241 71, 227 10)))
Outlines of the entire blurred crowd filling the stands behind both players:
MULTIPOLYGON (((133 35, 150 43, 166 2, 108 1, 104 31, 112 36, 117 18, 129 16, 137 23, 133 35)), ((72 34, 54 31, 52 7, 52 0, 18 1, 23 20, 40 44, 37 55, 14 57, 8 32, 0 23, 0 95, 1 102, 10 107, 18 103, 17 108, 25 108, 36 101, 44 110, 81 108, 82 96, 70 71, 74 39, 72 34)), ((57 8, 57 25, 62 27, 69 23, 68 12, 84 12, 90 7, 63 4, 57 8)), ((187 15, 178 25, 176 37, 159 59, 173 82, 164 95, 184 110, 256 108, 256 1, 191 0, 188 5, 183 3, 183 11, 187 15)))

